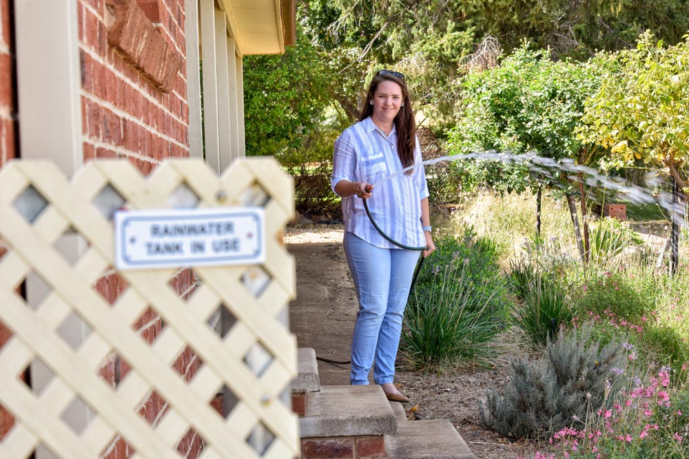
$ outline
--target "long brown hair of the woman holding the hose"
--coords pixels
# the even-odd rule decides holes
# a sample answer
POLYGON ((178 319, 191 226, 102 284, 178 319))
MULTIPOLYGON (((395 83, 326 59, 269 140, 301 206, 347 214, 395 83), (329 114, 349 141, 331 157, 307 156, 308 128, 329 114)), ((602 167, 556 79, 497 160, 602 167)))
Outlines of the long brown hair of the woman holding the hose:
MULTIPOLYGON (((392 81, 402 89, 402 102, 404 105, 400 107, 400 111, 395 116, 395 129, 397 129, 397 153, 402 161, 402 167, 409 167, 414 164, 414 149, 416 148, 416 120, 414 118, 414 111, 411 109, 411 99, 409 98, 409 89, 407 83, 404 83, 402 78, 398 78, 391 72, 383 74, 378 73, 373 76, 371 85, 369 85, 369 93, 364 102, 364 109, 359 116, 359 121, 369 118, 373 114, 373 105, 371 100, 376 95, 378 85, 383 81, 392 81)), ((412 171, 409 171, 411 173, 412 171)))

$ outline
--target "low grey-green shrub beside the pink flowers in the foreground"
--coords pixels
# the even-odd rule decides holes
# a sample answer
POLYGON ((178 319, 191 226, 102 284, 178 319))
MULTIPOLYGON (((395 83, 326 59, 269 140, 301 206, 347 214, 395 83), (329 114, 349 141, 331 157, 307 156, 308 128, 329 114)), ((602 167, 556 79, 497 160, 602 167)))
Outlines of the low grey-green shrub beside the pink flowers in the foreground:
POLYGON ((621 341, 601 348, 589 343, 589 334, 587 326, 561 330, 539 358, 511 361, 513 374, 502 393, 490 389, 486 409, 479 403, 483 422, 510 438, 547 438, 612 403, 606 396, 624 384, 626 354, 621 341))

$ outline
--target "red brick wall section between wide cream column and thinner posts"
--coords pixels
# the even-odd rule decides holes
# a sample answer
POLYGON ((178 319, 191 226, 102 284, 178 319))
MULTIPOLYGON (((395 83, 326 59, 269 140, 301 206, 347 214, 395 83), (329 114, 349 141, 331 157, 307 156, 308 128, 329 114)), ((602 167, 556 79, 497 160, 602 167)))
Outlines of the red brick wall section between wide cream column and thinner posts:
POLYGON ((189 156, 184 0, 75 1, 84 159, 189 156))

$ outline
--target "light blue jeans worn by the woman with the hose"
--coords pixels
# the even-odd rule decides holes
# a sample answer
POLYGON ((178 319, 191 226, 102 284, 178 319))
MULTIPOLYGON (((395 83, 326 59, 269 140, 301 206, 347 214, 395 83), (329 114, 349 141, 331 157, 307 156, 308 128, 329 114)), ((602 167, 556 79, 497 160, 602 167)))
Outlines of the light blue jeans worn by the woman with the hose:
POLYGON ((351 384, 369 383, 374 357, 373 381, 392 383, 404 306, 421 253, 372 246, 353 233, 345 233, 344 245, 359 299, 351 341, 351 384))

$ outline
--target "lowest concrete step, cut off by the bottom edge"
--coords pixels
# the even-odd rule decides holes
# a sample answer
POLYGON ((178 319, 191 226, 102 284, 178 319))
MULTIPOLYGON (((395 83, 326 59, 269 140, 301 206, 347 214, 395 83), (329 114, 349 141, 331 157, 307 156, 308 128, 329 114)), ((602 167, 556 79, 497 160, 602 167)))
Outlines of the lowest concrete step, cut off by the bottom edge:
POLYGON ((385 457, 391 459, 476 459, 445 419, 400 421, 396 434, 384 436, 384 444, 385 457))

